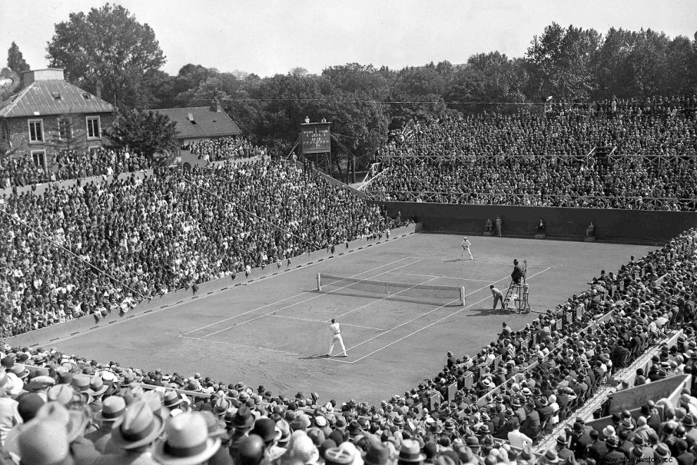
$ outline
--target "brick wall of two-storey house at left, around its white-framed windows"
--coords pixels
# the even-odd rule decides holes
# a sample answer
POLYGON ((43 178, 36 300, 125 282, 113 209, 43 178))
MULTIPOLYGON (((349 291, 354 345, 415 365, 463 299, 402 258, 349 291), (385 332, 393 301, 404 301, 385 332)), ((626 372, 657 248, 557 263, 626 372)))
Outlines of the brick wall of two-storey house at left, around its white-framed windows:
POLYGON ((2 125, 8 128, 11 149, 7 156, 31 156, 34 150, 46 151, 46 168, 56 169, 56 154, 61 150, 84 151, 88 147, 101 147, 106 143, 104 130, 111 128, 114 116, 113 113, 75 113, 71 115, 47 115, 32 116, 23 118, 7 118, 2 125), (87 140, 87 120, 88 116, 99 116, 101 126, 101 138, 98 140, 87 140), (60 140, 58 132, 59 118, 68 118, 72 122, 73 135, 70 140, 60 140), (44 125, 44 142, 30 142, 29 120, 41 119, 44 125))

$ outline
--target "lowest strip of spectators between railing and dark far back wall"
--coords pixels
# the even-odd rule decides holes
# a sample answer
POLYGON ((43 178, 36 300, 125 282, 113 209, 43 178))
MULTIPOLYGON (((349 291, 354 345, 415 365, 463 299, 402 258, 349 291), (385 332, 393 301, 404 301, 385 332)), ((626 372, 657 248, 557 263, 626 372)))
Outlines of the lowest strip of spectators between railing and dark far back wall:
POLYGON ((570 194, 502 194, 496 192, 368 191, 373 200, 436 204, 580 206, 608 209, 696 211, 697 199, 675 197, 610 197, 570 194), (620 205, 620 206, 615 206, 620 205))

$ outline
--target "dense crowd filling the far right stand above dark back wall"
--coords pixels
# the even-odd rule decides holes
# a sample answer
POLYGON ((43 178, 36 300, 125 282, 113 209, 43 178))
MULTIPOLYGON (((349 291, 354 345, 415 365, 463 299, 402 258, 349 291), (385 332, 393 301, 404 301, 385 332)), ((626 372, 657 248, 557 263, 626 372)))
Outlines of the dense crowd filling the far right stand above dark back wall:
POLYGON ((413 121, 378 151, 389 171, 368 192, 409 202, 694 211, 694 104, 659 100, 646 109, 615 101, 592 111, 413 121))

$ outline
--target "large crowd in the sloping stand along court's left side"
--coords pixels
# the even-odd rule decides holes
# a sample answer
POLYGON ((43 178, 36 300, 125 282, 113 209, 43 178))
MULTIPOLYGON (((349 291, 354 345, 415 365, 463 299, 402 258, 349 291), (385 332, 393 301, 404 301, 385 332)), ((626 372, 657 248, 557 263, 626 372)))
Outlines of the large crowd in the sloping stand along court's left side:
POLYGON ((0 333, 382 235, 377 206, 268 159, 0 197, 0 333))

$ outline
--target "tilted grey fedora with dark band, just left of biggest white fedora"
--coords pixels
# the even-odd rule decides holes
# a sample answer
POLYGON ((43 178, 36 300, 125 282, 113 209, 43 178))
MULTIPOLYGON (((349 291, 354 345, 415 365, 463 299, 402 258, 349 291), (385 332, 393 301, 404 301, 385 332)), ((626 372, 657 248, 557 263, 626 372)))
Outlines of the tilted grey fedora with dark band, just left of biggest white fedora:
MULTIPOLYGON (((205 421, 203 430, 206 430, 205 421)), ((111 440, 121 449, 135 449, 149 445, 161 431, 162 419, 153 414, 153 410, 146 402, 139 400, 131 404, 126 413, 114 422, 111 440)))

